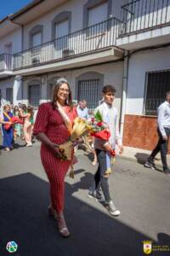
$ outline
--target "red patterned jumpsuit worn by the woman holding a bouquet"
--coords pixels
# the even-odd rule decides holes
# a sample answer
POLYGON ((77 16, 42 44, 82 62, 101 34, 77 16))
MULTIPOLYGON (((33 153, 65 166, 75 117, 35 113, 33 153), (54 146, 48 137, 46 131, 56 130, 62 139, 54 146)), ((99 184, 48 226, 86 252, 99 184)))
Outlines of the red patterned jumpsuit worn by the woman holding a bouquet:
MULTIPOLYGON (((70 111, 70 107, 68 107, 66 113, 71 121, 77 117, 76 108, 70 111)), ((59 111, 53 108, 51 102, 42 103, 38 109, 33 133, 37 135, 39 132, 43 132, 52 143, 56 144, 65 143, 69 137, 69 132, 59 111)), ((59 160, 43 143, 41 146, 41 160, 50 183, 52 207, 60 213, 64 209, 65 175, 71 161, 59 160)))

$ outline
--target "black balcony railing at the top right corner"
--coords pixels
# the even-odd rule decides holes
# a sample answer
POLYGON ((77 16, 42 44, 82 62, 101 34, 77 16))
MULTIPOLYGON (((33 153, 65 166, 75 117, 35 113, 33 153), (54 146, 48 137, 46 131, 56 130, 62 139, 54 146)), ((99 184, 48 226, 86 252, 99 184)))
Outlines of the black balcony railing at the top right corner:
POLYGON ((119 36, 170 25, 170 0, 136 0, 122 6, 119 36))

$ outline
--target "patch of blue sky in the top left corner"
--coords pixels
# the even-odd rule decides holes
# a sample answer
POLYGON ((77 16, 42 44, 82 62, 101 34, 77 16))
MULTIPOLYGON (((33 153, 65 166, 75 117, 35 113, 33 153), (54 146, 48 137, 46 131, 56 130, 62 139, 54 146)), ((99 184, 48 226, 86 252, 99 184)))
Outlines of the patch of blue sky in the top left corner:
POLYGON ((10 14, 14 14, 31 2, 32 0, 0 0, 0 20, 10 14))

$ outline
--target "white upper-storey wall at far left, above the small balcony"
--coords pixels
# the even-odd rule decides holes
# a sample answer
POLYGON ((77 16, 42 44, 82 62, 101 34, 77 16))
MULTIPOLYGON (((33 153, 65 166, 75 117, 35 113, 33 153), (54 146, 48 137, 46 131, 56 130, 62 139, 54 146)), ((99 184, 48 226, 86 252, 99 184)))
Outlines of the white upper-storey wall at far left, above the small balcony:
POLYGON ((4 53, 4 45, 12 43, 12 54, 21 51, 21 28, 0 39, 0 54, 4 53))

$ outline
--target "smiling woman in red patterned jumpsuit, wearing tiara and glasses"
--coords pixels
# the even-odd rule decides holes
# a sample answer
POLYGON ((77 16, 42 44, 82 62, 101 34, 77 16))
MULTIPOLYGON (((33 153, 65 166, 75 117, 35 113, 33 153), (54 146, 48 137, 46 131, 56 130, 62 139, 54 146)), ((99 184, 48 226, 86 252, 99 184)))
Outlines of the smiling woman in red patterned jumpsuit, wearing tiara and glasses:
POLYGON ((70 133, 59 113, 64 110, 71 120, 77 117, 76 108, 72 107, 71 89, 66 79, 58 79, 54 86, 52 102, 42 103, 37 112, 34 135, 42 142, 41 160, 50 184, 51 206, 49 215, 58 223, 59 234, 70 236, 63 215, 65 197, 65 175, 71 166, 70 160, 60 160, 59 144, 65 143, 70 133))

